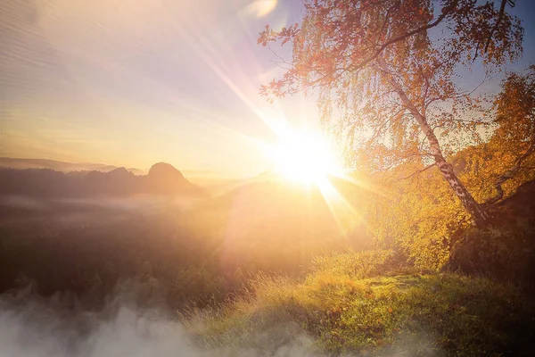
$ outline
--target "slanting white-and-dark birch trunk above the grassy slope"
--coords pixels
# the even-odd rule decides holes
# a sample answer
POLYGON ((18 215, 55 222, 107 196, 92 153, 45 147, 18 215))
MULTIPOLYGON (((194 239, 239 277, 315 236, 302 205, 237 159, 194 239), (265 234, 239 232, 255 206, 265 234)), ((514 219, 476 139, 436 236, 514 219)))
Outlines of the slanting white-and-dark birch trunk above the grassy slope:
POLYGON ((480 203, 475 201, 473 196, 466 189, 465 185, 463 185, 461 180, 457 178, 457 175, 453 170, 453 166, 449 162, 446 162, 446 159, 442 154, 442 150, 440 149, 439 139, 434 134, 431 126, 427 122, 427 119, 421 112, 417 110, 416 106, 405 94, 403 88, 399 85, 396 79, 391 76, 386 66, 379 62, 379 68, 385 73, 389 83, 391 83, 394 91, 399 95, 403 105, 407 107, 408 111, 415 117, 416 121, 420 125, 420 128, 424 131, 425 137, 427 137, 427 141, 429 142, 431 154, 434 158, 435 164, 439 168, 444 179, 448 182, 449 187, 453 189, 459 200, 461 200, 465 210, 470 213, 475 225, 478 228, 485 228, 489 220, 489 213, 481 206, 480 203))

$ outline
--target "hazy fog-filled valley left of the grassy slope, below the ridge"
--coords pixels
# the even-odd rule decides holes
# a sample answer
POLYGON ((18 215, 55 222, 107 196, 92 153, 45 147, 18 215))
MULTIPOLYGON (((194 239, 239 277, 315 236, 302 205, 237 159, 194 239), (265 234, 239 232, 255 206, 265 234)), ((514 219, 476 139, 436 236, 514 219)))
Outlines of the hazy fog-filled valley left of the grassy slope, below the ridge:
MULTIPOLYGON (((271 182, 211 198, 0 195, 0 357, 325 355, 293 321, 207 345, 177 310, 220 306, 258 272, 302 277, 349 245, 340 234, 322 195, 271 182)), ((426 341, 384 355, 432 355, 426 341)))

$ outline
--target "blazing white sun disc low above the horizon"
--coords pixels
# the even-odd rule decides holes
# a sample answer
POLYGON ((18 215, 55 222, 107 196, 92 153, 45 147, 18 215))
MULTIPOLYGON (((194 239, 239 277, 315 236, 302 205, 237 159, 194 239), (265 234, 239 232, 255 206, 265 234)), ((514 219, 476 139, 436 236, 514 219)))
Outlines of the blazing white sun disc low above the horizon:
POLYGON ((286 179, 318 184, 328 176, 339 176, 341 160, 332 145, 315 132, 292 131, 270 149, 276 170, 286 179))

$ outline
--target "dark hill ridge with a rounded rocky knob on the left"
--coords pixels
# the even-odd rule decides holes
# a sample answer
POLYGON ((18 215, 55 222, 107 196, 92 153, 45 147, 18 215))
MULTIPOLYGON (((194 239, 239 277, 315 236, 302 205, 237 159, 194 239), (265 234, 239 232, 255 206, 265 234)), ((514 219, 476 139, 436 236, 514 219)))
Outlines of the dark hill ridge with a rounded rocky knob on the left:
POLYGON ((202 197, 206 193, 193 185, 169 163, 157 163, 147 175, 115 168, 108 171, 51 169, 1 169, 0 195, 73 198, 129 195, 181 195, 202 197))

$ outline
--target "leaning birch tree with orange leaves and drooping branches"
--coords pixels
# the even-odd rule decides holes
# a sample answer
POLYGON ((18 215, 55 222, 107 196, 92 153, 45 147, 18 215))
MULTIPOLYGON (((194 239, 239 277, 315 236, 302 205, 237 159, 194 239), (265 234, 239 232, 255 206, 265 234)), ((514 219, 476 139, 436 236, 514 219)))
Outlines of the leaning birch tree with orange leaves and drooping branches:
MULTIPOLYGON (((308 0, 300 24, 259 34, 292 44, 268 97, 317 89, 321 119, 346 138, 350 157, 377 170, 420 161, 437 168, 479 227, 485 206, 457 178, 449 152, 477 138, 482 117, 459 73, 487 73, 522 54, 512 0, 308 0)), ((274 50, 276 52, 276 50, 274 50)))

